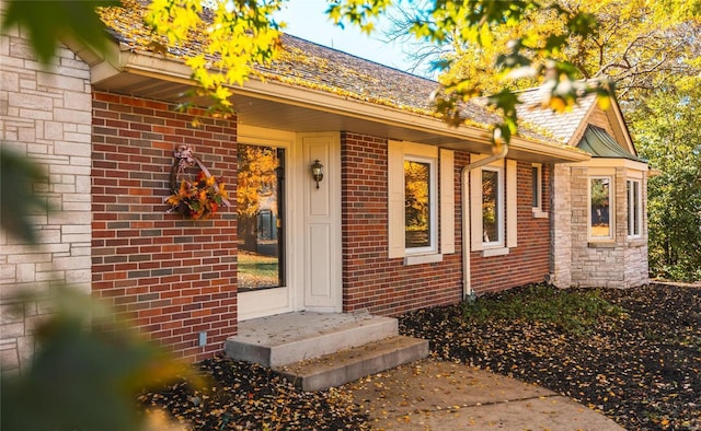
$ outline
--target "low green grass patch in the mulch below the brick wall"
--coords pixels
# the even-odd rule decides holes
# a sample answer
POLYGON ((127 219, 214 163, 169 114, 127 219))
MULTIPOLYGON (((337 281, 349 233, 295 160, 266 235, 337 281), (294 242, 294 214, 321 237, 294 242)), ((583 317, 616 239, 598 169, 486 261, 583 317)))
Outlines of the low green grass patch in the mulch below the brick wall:
POLYGON ((543 284, 481 296, 462 305, 463 317, 472 323, 541 322, 579 336, 588 335, 601 317, 623 314, 623 310, 604 299, 599 290, 558 290, 543 284))

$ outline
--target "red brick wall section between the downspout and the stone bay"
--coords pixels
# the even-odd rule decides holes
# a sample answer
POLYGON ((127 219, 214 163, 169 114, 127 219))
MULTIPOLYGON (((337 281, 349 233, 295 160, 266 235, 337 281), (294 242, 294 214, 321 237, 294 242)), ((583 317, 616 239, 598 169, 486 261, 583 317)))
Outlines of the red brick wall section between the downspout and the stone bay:
MULTIPOLYGON (((550 212, 551 172, 551 165, 543 165, 543 212, 550 212)), ((518 162, 516 184, 518 245, 504 256, 471 253, 472 289, 476 294, 542 282, 550 272, 550 219, 533 218, 530 163, 518 162)))

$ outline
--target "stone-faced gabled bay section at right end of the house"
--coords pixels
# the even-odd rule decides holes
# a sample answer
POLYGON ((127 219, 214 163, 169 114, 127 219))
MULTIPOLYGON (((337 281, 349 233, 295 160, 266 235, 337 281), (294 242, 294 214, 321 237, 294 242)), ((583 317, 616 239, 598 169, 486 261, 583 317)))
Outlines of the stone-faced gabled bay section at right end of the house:
POLYGON ((621 109, 596 96, 572 112, 529 108, 539 90, 520 93, 519 116, 591 154, 554 166, 551 282, 566 288, 630 288, 647 282, 647 162, 637 156, 621 109))

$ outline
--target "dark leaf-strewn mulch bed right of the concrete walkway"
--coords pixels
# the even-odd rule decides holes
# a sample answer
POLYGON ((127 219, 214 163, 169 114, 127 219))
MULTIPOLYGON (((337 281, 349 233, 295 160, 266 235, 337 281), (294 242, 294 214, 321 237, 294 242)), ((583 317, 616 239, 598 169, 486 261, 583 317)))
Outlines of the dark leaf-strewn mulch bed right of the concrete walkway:
POLYGON ((653 284, 600 295, 624 314, 602 317, 586 335, 538 322, 470 325, 460 306, 411 313, 401 328, 429 339, 438 358, 541 385, 627 429, 701 430, 701 288, 653 284))

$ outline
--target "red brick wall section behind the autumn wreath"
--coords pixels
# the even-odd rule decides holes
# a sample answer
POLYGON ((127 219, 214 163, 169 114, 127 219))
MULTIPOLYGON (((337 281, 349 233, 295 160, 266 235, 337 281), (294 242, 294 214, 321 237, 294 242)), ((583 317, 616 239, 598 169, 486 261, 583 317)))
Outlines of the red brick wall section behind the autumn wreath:
POLYGON ((234 196, 235 120, 193 127, 171 105, 102 92, 93 116, 93 294, 177 357, 211 356, 237 331, 234 209, 192 221, 165 213, 163 198, 180 144, 234 196))

